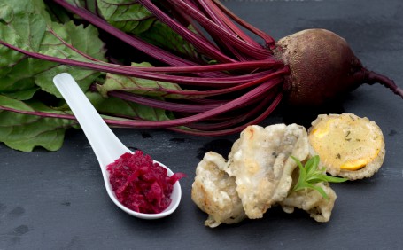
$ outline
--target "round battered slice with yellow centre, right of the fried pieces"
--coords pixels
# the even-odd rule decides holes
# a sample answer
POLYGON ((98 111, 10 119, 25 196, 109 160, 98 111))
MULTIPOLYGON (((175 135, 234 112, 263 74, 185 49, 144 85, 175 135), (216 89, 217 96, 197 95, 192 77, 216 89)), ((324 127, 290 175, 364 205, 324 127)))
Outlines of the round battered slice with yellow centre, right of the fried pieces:
POLYGON ((374 121, 353 113, 321 114, 308 130, 312 154, 332 176, 373 176, 384 162, 384 136, 374 121))

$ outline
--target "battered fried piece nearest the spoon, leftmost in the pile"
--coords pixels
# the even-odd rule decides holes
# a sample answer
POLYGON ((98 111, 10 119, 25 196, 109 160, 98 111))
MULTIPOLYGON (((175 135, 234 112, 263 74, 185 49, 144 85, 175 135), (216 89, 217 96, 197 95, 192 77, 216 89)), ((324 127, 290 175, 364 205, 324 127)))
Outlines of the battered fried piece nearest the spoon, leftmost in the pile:
POLYGON ((221 154, 207 152, 196 168, 192 184, 191 199, 205 213, 205 225, 216 227, 221 223, 239 223, 246 218, 241 199, 236 192, 235 177, 222 168, 227 161, 221 154))

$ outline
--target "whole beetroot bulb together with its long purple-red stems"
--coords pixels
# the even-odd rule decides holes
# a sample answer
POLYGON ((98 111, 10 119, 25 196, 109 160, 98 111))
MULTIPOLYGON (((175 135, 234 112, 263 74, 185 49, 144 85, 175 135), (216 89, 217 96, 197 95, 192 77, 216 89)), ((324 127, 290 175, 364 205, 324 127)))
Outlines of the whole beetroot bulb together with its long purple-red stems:
MULTIPOLYGON (((170 82, 174 86, 149 88, 134 84, 136 86, 125 86, 120 90, 106 90, 110 97, 168 113, 161 119, 163 121, 144 121, 143 117, 107 113, 105 121, 113 126, 165 128, 193 135, 221 136, 263 121, 281 101, 297 106, 322 105, 362 83, 379 82, 403 98, 403 91, 393 81, 368 71, 345 39, 327 30, 309 29, 275 43, 270 35, 241 20, 219 1, 134 1, 132 4, 142 4, 153 14, 152 18, 165 23, 194 47, 193 53, 183 55, 146 43, 136 35, 128 35, 112 27, 99 12, 74 4, 74 1, 53 2, 73 12, 74 16, 80 16, 80 20, 75 21, 96 26, 105 37, 112 36, 113 41, 120 40, 142 51, 159 66, 128 66, 114 60, 101 62, 88 55, 86 58, 92 61, 79 61, 26 51, 1 40, 0 44, 36 59, 110 73, 106 80, 124 82, 127 80, 124 76, 128 76, 132 77, 129 80, 132 82, 147 79, 170 82), (260 36, 263 44, 255 42, 241 27, 260 36), (135 94, 136 91, 143 95, 135 94), (153 94, 159 97, 155 98, 153 94)), ((75 50, 73 44, 66 45, 75 50)), ((115 44, 106 43, 105 46, 111 48, 115 44)), ((102 89, 103 85, 97 83, 89 88, 92 91, 102 89)), ((74 119, 68 114, 3 109, 74 119)))

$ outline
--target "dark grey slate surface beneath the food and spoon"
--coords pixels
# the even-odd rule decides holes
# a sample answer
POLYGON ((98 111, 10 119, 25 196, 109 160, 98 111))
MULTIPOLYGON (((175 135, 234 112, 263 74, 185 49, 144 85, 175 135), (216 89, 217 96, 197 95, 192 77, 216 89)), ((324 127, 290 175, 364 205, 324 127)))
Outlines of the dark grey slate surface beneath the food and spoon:
MULTIPOLYGON (((368 68, 403 85, 403 2, 399 0, 224 1, 276 39, 324 27, 345 37, 368 68)), ((0 249, 398 249, 403 244, 403 102, 382 86, 362 86, 323 112, 368 116, 384 131, 384 166, 370 179, 333 184, 337 202, 329 223, 305 212, 270 209, 261 220, 209 229, 190 200, 204 152, 226 154, 237 136, 189 137, 164 130, 115 130, 188 177, 174 215, 143 221, 112 204, 81 130, 58 152, 16 152, 0 145, 0 249)), ((316 113, 279 109, 266 123, 307 126, 316 113)))

